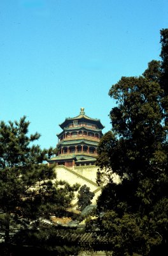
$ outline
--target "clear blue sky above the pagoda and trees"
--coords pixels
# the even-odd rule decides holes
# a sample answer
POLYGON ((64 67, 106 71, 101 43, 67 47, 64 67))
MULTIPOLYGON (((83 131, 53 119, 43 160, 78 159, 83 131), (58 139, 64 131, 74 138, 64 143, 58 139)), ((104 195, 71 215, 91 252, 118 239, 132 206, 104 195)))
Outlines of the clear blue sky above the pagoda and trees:
POLYGON ((167 0, 1 0, 0 120, 26 115, 41 148, 85 108, 111 129, 108 92, 159 60, 167 0))

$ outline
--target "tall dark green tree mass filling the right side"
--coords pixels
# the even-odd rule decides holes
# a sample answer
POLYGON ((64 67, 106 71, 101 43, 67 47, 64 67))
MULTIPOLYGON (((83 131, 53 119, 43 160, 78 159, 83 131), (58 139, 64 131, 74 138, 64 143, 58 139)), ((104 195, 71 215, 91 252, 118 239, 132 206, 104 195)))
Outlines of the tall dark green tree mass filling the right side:
POLYGON ((99 143, 97 227, 113 255, 165 255, 168 214, 167 76, 168 29, 162 29, 162 61, 151 61, 140 77, 122 77, 109 90, 112 131, 99 143), (120 177, 115 184, 111 172, 120 177), (101 215, 100 215, 101 216, 101 215))

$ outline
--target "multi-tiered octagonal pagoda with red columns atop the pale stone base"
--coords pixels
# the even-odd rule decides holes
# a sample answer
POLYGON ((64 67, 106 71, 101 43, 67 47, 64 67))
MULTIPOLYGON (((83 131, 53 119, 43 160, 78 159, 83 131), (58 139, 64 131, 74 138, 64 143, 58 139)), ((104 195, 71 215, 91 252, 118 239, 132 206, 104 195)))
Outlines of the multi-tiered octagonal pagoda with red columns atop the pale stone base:
POLYGON ((80 115, 66 118, 59 125, 62 132, 57 134, 57 156, 50 159, 49 163, 69 168, 95 164, 104 126, 99 119, 85 115, 84 108, 80 110, 80 115))

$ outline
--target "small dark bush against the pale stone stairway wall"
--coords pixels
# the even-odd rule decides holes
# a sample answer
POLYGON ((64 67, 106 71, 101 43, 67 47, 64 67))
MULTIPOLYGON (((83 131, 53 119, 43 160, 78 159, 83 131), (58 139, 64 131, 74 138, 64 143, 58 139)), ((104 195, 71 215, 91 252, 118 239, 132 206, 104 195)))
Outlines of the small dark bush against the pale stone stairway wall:
POLYGON ((78 192, 78 210, 83 211, 87 205, 91 204, 91 200, 94 198, 94 193, 90 191, 87 185, 83 185, 78 192))

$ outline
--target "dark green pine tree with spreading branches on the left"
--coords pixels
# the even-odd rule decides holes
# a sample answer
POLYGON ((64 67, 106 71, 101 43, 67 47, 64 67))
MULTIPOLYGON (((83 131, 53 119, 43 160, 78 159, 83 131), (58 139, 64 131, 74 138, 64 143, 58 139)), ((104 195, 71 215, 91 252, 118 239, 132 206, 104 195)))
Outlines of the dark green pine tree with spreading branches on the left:
POLYGON ((33 145, 40 135, 29 135, 28 127, 25 116, 0 122, 0 220, 6 244, 13 228, 28 228, 31 221, 36 227, 41 218, 64 215, 78 189, 56 180, 54 166, 45 163, 53 149, 33 145))

